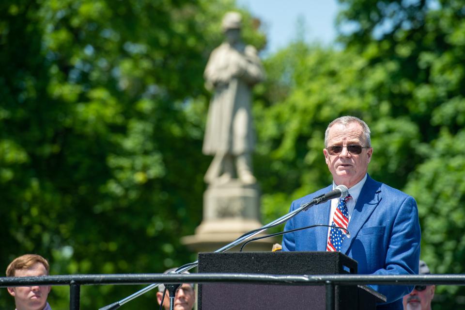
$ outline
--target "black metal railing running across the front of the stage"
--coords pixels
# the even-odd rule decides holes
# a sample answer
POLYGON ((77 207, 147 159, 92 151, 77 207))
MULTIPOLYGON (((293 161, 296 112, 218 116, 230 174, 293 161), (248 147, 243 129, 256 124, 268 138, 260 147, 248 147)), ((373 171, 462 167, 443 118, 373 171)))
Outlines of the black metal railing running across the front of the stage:
POLYGON ((79 310, 81 285, 152 284, 152 283, 256 283, 286 285, 325 285, 326 309, 334 309, 336 285, 465 285, 465 275, 264 275, 240 273, 201 274, 113 274, 113 275, 62 275, 43 277, 0 277, 0 287, 32 285, 69 285, 70 310, 79 310))

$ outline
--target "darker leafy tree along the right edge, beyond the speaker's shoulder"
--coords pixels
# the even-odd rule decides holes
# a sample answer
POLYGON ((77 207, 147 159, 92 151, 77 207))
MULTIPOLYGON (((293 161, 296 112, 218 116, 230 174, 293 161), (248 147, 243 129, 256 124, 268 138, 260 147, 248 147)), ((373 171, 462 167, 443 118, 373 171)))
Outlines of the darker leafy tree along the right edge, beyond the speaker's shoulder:
MULTIPOLYGON (((358 22, 343 40, 349 49, 369 54, 371 64, 397 67, 383 97, 418 128, 420 144, 410 156, 420 162, 408 171, 405 190, 418 201, 422 258, 434 272, 465 273, 464 2, 342 2, 348 6, 341 21, 358 22)), ((437 290, 446 292, 450 297, 438 309, 456 306, 461 299, 455 296, 465 294, 458 287, 437 290)))

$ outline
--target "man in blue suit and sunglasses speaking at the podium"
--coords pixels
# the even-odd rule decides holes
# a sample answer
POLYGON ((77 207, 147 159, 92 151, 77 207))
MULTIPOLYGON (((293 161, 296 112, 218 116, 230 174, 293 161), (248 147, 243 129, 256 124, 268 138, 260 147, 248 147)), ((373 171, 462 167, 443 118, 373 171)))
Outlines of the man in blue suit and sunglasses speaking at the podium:
MULTIPOLYGON (((285 234, 282 250, 339 250, 358 262, 359 274, 418 274, 420 227, 417 203, 413 197, 377 182, 367 174, 373 153, 367 124, 353 116, 335 119, 326 129, 323 153, 333 184, 295 200, 291 211, 341 184, 347 186, 350 196, 300 212, 284 229, 325 224, 347 228, 350 238, 343 229, 304 229, 285 234)), ((378 305, 377 309, 402 310, 402 297, 413 289, 413 286, 399 285, 371 287, 387 297, 387 302, 378 305)))

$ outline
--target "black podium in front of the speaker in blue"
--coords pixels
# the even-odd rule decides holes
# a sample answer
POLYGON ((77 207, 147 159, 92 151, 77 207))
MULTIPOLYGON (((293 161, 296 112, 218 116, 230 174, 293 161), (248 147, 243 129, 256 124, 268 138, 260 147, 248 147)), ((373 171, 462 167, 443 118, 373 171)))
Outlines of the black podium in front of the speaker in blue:
MULTIPOLYGON (((270 275, 356 274, 357 262, 339 252, 199 253, 199 273, 270 275)), ((336 286, 336 310, 374 310, 383 295, 369 287, 336 286)), ((325 285, 206 283, 198 290, 200 310, 325 310, 325 285)))

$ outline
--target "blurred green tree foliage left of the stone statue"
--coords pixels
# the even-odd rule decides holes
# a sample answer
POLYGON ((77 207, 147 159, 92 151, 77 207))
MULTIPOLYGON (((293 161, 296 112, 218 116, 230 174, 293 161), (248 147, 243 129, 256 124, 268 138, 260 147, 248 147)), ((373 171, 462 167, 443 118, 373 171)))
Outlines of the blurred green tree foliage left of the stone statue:
MULTIPOLYGON (((203 69, 233 1, 0 4, 0 265, 52 274, 163 272, 202 219, 203 69)), ((263 35, 245 13, 248 42, 263 35)), ((83 287, 94 309, 138 287, 83 287)), ((68 288, 54 288, 67 308, 68 288)), ((6 290, 0 308, 13 309, 6 290)), ((156 304, 155 295, 132 307, 156 304)))

